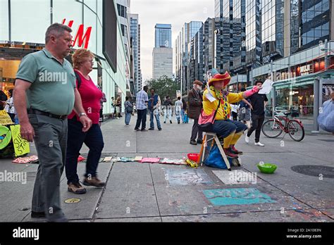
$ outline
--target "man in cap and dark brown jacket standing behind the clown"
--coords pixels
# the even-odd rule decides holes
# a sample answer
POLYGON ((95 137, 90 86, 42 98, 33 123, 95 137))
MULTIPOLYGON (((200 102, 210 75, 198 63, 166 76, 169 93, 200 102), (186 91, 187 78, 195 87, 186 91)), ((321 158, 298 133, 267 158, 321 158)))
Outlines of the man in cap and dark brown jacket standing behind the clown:
POLYGON ((203 106, 203 97, 201 94, 202 85, 202 82, 195 80, 192 84, 192 89, 190 89, 188 93, 188 116, 194 119, 192 136, 190 137, 190 144, 193 145, 202 144, 203 142, 203 132, 199 130, 198 127, 199 114, 201 114, 203 106))

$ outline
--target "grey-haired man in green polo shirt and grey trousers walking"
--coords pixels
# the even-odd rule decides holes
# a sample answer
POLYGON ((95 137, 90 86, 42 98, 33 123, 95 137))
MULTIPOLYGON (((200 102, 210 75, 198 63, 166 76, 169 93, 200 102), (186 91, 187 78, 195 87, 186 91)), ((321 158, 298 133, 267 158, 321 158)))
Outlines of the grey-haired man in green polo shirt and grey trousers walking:
POLYGON ((80 115, 82 131, 92 121, 85 114, 75 73, 65 57, 72 47, 72 30, 58 23, 49 26, 45 48, 23 58, 16 74, 14 105, 23 139, 32 142, 39 166, 32 194, 32 218, 47 217, 50 222, 66 222, 61 210, 60 179, 66 161, 69 115, 80 115))

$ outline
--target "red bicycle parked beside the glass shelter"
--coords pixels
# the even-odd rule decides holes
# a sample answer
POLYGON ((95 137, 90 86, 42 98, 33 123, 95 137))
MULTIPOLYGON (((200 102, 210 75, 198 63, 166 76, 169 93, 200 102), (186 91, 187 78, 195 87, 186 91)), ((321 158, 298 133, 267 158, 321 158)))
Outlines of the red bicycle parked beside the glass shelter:
MULTIPOLYGON (((288 115, 291 113, 283 113, 283 115, 275 115, 273 119, 269 119, 262 125, 262 132, 268 138, 276 138, 282 134, 284 131, 285 134, 289 134, 290 137, 295 140, 295 142, 300 142, 304 139, 305 131, 304 126, 300 120, 289 119, 288 115), (282 120, 285 121, 283 125, 282 120)), ((284 134, 284 136, 285 136, 284 134)), ((283 136, 283 137, 284 137, 283 136)))

